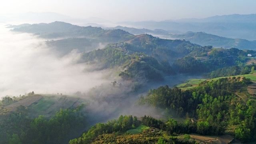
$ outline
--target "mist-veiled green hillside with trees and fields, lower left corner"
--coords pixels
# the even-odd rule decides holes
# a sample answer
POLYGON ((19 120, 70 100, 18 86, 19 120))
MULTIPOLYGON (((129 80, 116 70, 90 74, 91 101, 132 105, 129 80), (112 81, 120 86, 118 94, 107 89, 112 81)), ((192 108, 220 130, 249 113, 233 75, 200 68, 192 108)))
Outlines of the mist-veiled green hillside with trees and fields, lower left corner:
MULTIPOLYGON (((6 97, 0 103, 7 99, 12 100, 6 97)), ((73 96, 36 94, 0 106, 0 143, 67 142, 86 126, 82 103, 84 100, 73 96)))

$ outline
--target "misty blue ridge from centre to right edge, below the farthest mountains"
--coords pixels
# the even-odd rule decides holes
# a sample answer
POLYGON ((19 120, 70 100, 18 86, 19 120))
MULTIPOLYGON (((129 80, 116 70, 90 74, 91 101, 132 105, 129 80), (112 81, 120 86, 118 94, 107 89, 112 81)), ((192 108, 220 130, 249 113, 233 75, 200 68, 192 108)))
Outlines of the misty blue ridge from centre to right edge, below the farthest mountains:
POLYGON ((160 38, 167 39, 185 39, 189 40, 192 43, 199 44, 201 46, 213 46, 215 48, 238 48, 238 49, 247 49, 255 50, 256 49, 256 40, 249 41, 245 39, 234 39, 234 38, 225 38, 222 36, 216 36, 213 34, 207 34, 205 32, 186 32, 181 34, 179 31, 167 31, 162 29, 149 30, 146 28, 128 28, 123 26, 116 26, 114 28, 106 29, 121 29, 125 30, 131 34, 152 34, 153 36, 159 36, 160 38))

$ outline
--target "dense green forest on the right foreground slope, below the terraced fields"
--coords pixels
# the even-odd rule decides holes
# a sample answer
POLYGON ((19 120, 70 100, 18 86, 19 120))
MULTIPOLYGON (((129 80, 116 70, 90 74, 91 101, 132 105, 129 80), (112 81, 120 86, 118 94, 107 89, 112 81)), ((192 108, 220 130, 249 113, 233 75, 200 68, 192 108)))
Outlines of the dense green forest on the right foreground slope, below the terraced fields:
POLYGON ((178 124, 171 121, 172 132, 183 133, 181 130, 184 129, 203 135, 220 135, 226 128, 236 126, 231 134, 242 141, 251 141, 256 139, 256 102, 250 99, 245 105, 241 98, 232 94, 237 90, 241 92, 240 88, 249 83, 250 79, 233 77, 205 82, 186 91, 162 86, 150 90, 147 96, 138 100, 138 104, 150 104, 174 110, 179 116, 197 118, 197 122, 177 128, 175 125, 178 124))

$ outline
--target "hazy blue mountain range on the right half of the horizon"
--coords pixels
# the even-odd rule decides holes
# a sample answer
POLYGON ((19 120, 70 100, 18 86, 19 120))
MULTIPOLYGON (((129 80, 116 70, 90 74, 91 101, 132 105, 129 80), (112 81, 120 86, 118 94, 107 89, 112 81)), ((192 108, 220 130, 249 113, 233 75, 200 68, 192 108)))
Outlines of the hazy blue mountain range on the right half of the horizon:
POLYGON ((256 14, 232 14, 203 19, 164 20, 160 22, 118 22, 117 24, 134 28, 148 28, 151 30, 206 32, 228 38, 256 40, 256 14))

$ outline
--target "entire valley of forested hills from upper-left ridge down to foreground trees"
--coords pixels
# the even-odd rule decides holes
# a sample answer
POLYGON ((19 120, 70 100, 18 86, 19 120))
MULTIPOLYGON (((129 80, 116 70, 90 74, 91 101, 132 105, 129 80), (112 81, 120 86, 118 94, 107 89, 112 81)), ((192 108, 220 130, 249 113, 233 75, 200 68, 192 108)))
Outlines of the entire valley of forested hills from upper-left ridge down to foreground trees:
POLYGON ((64 66, 80 67, 67 69, 67 76, 95 75, 78 81, 80 89, 70 88, 68 94, 58 89, 60 84, 55 92, 62 93, 32 91, 2 98, 0 143, 255 140, 255 50, 65 22, 11 27, 11 32, 42 40, 54 60, 67 60, 64 66), (101 81, 86 86, 96 78, 101 81))

